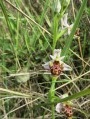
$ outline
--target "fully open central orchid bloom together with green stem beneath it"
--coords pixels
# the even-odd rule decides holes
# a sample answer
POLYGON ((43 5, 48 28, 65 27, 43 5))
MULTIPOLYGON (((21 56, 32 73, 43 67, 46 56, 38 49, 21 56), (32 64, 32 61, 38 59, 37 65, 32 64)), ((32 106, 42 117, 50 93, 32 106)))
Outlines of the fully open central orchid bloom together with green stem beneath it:
MULTIPOLYGON (((51 60, 42 66, 52 75, 52 84, 49 91, 49 101, 52 103, 55 99, 55 83, 56 79, 63 73, 63 71, 71 71, 72 68, 63 62, 65 56, 61 56, 61 49, 55 49, 53 55, 50 55, 51 60)), ((52 119, 54 117, 54 105, 52 105, 52 119)))

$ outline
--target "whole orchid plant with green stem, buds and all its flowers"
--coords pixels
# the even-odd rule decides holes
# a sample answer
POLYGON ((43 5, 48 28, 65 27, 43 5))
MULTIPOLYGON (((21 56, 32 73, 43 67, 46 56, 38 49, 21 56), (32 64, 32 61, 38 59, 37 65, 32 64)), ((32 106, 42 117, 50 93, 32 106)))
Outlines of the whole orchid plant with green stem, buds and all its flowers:
MULTIPOLYGON (((68 23, 68 13, 65 13, 68 5, 70 3, 70 0, 54 0, 54 12, 55 16, 53 19, 53 44, 52 44, 52 50, 53 50, 53 55, 50 55, 51 60, 43 64, 42 66, 44 67, 45 70, 47 70, 51 76, 52 76, 52 83, 51 83, 51 88, 48 93, 48 99, 52 103, 51 109, 52 109, 52 119, 55 119, 55 106, 53 104, 55 100, 55 84, 56 80, 60 75, 64 74, 64 71, 71 71, 72 68, 64 62, 65 56, 61 56, 61 49, 55 49, 57 40, 60 39, 62 35, 70 35, 73 24, 69 25, 68 23), (65 4, 64 4, 65 3, 65 4), (61 21, 61 26, 60 25, 61 21), (60 30, 59 30, 60 29, 60 30)), ((57 104, 56 106, 56 111, 58 110, 58 105, 59 108, 65 109, 64 111, 66 112, 67 117, 72 116, 72 108, 70 107, 69 104, 57 104), (71 113, 70 113, 71 112, 71 113), (71 116, 70 116, 71 115, 71 116)), ((60 111, 60 110, 59 110, 60 111)))

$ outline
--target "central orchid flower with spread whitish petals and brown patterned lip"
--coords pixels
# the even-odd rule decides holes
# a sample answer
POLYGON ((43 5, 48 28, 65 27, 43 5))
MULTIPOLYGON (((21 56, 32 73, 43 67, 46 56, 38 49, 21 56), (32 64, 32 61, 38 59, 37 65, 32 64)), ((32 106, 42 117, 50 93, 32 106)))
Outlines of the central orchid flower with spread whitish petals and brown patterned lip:
POLYGON ((54 76, 59 76, 63 71, 70 71, 72 68, 63 62, 65 56, 61 55, 61 49, 55 49, 53 55, 50 55, 51 61, 43 64, 42 66, 51 72, 54 76))

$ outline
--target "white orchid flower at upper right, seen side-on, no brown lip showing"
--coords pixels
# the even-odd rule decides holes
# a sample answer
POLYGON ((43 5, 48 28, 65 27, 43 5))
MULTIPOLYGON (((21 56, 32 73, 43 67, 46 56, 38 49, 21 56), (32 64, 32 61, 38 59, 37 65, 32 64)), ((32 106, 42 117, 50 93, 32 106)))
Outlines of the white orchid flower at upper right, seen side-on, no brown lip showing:
POLYGON ((62 29, 67 28, 68 29, 68 35, 70 35, 73 24, 69 25, 67 23, 67 16, 68 16, 68 13, 64 14, 64 16, 61 18, 61 26, 62 26, 62 29))

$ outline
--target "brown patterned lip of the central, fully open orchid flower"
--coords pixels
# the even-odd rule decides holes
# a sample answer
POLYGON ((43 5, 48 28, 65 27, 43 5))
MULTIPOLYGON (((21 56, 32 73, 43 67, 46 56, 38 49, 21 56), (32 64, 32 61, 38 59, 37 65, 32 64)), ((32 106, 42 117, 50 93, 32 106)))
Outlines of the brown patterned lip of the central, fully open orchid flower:
POLYGON ((60 64, 59 61, 54 61, 51 65, 50 65, 50 71, 52 75, 60 75, 61 72, 63 71, 63 65, 60 64))

